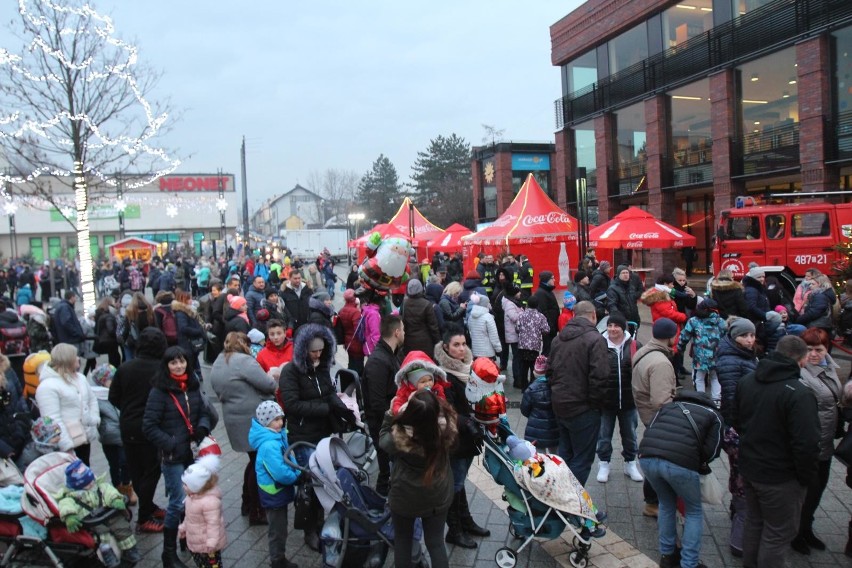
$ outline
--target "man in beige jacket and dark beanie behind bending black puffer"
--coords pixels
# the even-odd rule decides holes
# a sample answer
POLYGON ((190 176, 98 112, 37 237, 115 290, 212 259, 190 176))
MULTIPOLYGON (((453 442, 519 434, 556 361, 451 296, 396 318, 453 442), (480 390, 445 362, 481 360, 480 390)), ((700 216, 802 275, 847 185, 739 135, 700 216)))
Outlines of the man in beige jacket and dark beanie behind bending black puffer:
MULTIPOLYGON (((671 357, 677 343, 677 324, 669 318, 660 318, 651 328, 653 339, 633 356, 633 400, 639 418, 647 428, 657 411, 674 399, 677 376, 671 357)), ((657 493, 648 480, 642 487, 645 496, 646 517, 657 516, 657 493)))

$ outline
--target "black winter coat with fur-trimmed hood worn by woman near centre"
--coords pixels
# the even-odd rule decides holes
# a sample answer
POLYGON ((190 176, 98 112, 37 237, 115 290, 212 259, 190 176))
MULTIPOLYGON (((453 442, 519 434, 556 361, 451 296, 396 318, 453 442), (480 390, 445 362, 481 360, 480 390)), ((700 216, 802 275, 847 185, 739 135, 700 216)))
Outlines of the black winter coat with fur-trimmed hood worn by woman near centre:
POLYGON ((330 374, 336 348, 334 333, 324 325, 308 323, 296 334, 293 360, 281 371, 278 381, 291 444, 316 444, 333 433, 330 414, 335 401, 332 398, 340 401, 330 374), (308 344, 315 337, 325 341, 318 367, 311 364, 308 354, 308 344))

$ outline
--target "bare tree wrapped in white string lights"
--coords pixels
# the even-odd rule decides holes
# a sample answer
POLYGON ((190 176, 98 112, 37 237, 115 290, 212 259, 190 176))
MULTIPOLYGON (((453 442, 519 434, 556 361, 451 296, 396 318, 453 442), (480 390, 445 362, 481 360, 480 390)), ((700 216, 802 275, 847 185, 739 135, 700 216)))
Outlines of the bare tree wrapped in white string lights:
POLYGON ((116 177, 131 190, 177 167, 178 160, 150 145, 164 132, 169 105, 146 100, 159 73, 139 65, 136 48, 89 4, 19 0, 18 11, 9 26, 18 52, 0 49, 0 151, 11 165, 0 179, 74 225, 88 307, 95 301, 89 204, 114 195, 116 177), (66 214, 63 192, 40 182, 45 175, 73 188, 75 219, 66 214))

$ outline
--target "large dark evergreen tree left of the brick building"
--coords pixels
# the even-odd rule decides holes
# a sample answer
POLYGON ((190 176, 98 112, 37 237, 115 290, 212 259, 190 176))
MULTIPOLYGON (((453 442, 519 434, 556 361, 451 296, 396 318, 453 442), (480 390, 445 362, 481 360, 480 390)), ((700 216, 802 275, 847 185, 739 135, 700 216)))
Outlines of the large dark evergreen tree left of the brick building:
POLYGON ((411 169, 417 206, 430 221, 440 227, 453 223, 472 226, 470 144, 464 138, 439 135, 417 153, 411 169))

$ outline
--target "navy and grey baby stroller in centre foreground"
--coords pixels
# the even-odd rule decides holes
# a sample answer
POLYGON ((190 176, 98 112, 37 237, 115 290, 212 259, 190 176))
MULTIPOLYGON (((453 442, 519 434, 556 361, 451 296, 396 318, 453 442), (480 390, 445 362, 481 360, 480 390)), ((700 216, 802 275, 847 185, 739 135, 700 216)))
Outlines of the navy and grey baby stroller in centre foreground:
MULTIPOLYGON (((347 444, 337 437, 323 438, 316 446, 296 442, 287 449, 284 460, 302 471, 305 485, 299 492, 313 490, 325 511, 326 520, 320 535, 324 566, 383 566, 388 548, 393 544, 390 509, 384 497, 365 485, 367 475, 353 460, 347 444), (315 449, 308 467, 296 463, 293 452, 299 447, 315 449)), ((301 498, 297 494, 297 506, 301 498)), ((418 525, 414 534, 416 541, 421 534, 418 525)), ((429 566, 416 545, 412 563, 429 566)))

